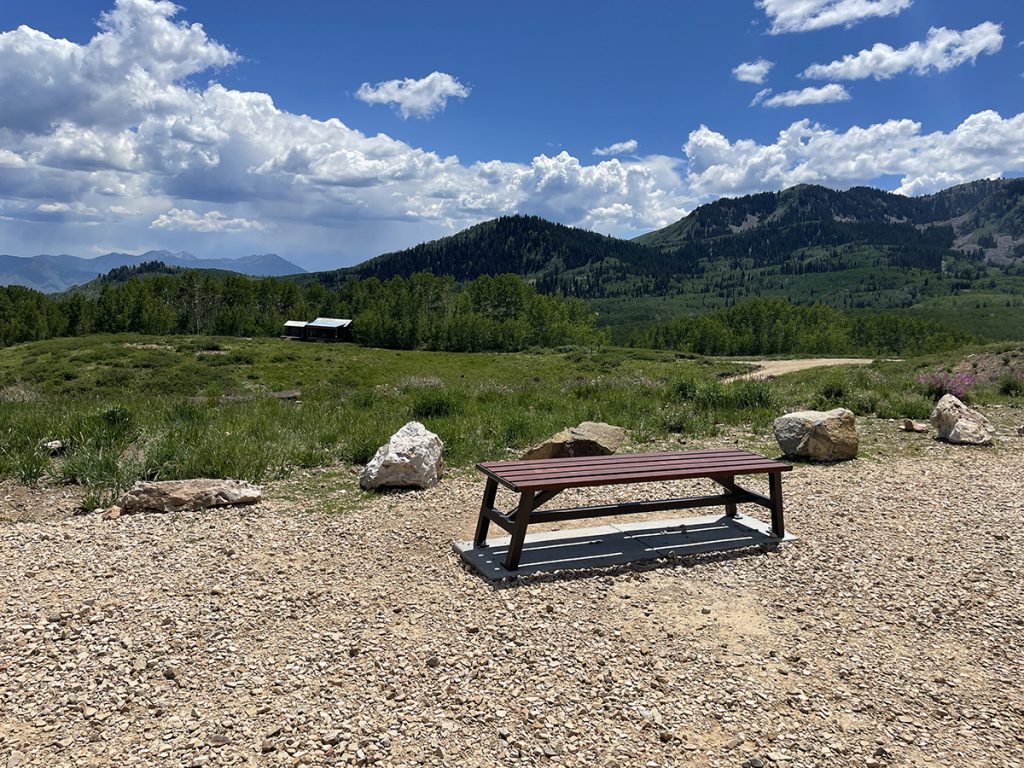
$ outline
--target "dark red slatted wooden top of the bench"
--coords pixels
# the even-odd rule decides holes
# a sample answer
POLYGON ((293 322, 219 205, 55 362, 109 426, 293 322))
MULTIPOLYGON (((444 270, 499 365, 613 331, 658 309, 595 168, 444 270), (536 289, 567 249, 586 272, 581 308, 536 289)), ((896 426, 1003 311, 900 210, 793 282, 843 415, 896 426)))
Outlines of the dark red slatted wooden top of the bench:
POLYGON ((786 472, 793 469, 784 462, 739 449, 483 462, 476 468, 516 493, 786 472))

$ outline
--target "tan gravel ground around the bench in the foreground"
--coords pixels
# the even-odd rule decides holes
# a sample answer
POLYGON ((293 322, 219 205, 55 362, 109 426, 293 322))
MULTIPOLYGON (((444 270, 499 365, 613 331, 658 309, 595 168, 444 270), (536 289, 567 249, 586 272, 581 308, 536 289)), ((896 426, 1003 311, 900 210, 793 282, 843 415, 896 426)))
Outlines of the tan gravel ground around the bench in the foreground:
POLYGON ((994 450, 889 423, 798 466, 777 552, 499 586, 451 548, 471 472, 8 518, 0 768, 1022 766, 1022 416, 994 450))

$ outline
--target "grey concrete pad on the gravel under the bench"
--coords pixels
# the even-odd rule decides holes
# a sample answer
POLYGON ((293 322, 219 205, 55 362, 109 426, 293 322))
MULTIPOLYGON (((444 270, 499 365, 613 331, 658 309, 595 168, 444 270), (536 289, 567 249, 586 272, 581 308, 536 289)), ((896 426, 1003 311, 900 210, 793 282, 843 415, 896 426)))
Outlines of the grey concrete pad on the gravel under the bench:
POLYGON ((797 537, 786 534, 776 539, 770 524, 748 515, 706 515, 529 534, 517 570, 508 570, 503 564, 511 537, 494 539, 487 547, 474 547, 472 542, 454 542, 453 547, 477 572, 497 581, 776 545, 779 541, 795 542, 797 537))

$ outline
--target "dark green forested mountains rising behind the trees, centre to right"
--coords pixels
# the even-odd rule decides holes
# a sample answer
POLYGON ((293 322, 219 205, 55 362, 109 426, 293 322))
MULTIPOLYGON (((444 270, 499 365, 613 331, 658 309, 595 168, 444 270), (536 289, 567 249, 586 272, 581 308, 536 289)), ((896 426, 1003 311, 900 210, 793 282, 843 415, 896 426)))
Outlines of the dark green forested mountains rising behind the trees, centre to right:
MULTIPOLYGON (((676 297, 691 311, 759 296, 898 308, 976 288, 1014 295, 1024 293, 1024 179, 923 198, 805 184, 723 199, 629 242, 510 216, 301 280, 334 286, 421 270, 459 281, 514 272, 542 293, 676 297)), ((618 313, 614 301, 601 306, 618 313)))

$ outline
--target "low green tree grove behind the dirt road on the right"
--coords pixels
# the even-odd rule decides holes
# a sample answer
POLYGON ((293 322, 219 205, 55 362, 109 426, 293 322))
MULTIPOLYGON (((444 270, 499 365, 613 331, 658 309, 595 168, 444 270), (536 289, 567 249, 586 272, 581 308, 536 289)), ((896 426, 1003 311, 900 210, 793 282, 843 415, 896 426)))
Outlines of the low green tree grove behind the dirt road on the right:
POLYGON ((969 334, 908 314, 843 312, 824 304, 755 299, 659 323, 631 346, 698 354, 924 354, 972 341, 969 334))

